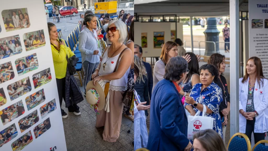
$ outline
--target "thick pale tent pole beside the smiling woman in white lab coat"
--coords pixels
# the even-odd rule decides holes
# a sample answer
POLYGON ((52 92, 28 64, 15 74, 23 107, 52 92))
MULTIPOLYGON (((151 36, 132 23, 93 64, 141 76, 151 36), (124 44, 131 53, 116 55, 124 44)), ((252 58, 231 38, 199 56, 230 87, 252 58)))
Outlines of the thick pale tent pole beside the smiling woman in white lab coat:
POLYGON ((230 0, 230 136, 239 132, 239 0, 230 0))

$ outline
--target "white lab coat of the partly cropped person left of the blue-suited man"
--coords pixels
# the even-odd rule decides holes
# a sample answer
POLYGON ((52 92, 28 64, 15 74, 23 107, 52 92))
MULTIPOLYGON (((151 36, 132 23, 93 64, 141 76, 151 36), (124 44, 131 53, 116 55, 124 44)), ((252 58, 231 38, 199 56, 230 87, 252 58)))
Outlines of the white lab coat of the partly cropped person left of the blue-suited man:
MULTIPOLYGON (((134 90, 136 96, 137 92, 134 90)), ((140 103, 139 98, 137 97, 140 103)), ((136 103, 134 103, 134 150, 146 148, 148 143, 148 132, 146 127, 146 117, 143 110, 138 111, 136 103), (142 139, 141 139, 142 138, 142 139)))

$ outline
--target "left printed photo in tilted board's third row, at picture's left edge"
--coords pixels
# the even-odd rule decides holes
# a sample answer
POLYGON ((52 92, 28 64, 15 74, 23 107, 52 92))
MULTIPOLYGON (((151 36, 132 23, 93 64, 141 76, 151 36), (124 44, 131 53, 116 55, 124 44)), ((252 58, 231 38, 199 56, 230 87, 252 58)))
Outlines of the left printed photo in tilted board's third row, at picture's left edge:
POLYGON ((11 62, 0 64, 0 84, 15 77, 11 62))

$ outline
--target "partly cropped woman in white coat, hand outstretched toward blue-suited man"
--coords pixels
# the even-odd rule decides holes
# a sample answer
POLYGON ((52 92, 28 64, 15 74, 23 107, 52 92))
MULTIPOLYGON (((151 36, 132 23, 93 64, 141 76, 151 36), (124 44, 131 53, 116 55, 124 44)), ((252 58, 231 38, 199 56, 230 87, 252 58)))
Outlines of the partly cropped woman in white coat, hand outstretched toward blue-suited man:
MULTIPOLYGON (((139 76, 139 68, 134 64, 134 83, 139 76)), ((150 109, 146 102, 140 102, 140 96, 134 90, 134 150, 146 148, 148 142, 148 132, 146 127, 146 117, 144 110, 150 109)))

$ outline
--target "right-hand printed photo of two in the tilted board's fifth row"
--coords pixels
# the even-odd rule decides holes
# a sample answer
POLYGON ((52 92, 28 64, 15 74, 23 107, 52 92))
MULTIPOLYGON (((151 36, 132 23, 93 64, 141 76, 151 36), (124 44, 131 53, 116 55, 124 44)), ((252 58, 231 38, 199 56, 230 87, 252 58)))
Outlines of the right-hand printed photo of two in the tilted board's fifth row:
POLYGON ((28 111, 35 108, 39 104, 43 103, 45 99, 46 98, 45 98, 44 89, 39 90, 30 96, 27 96, 25 98, 25 102, 26 102, 28 111))

